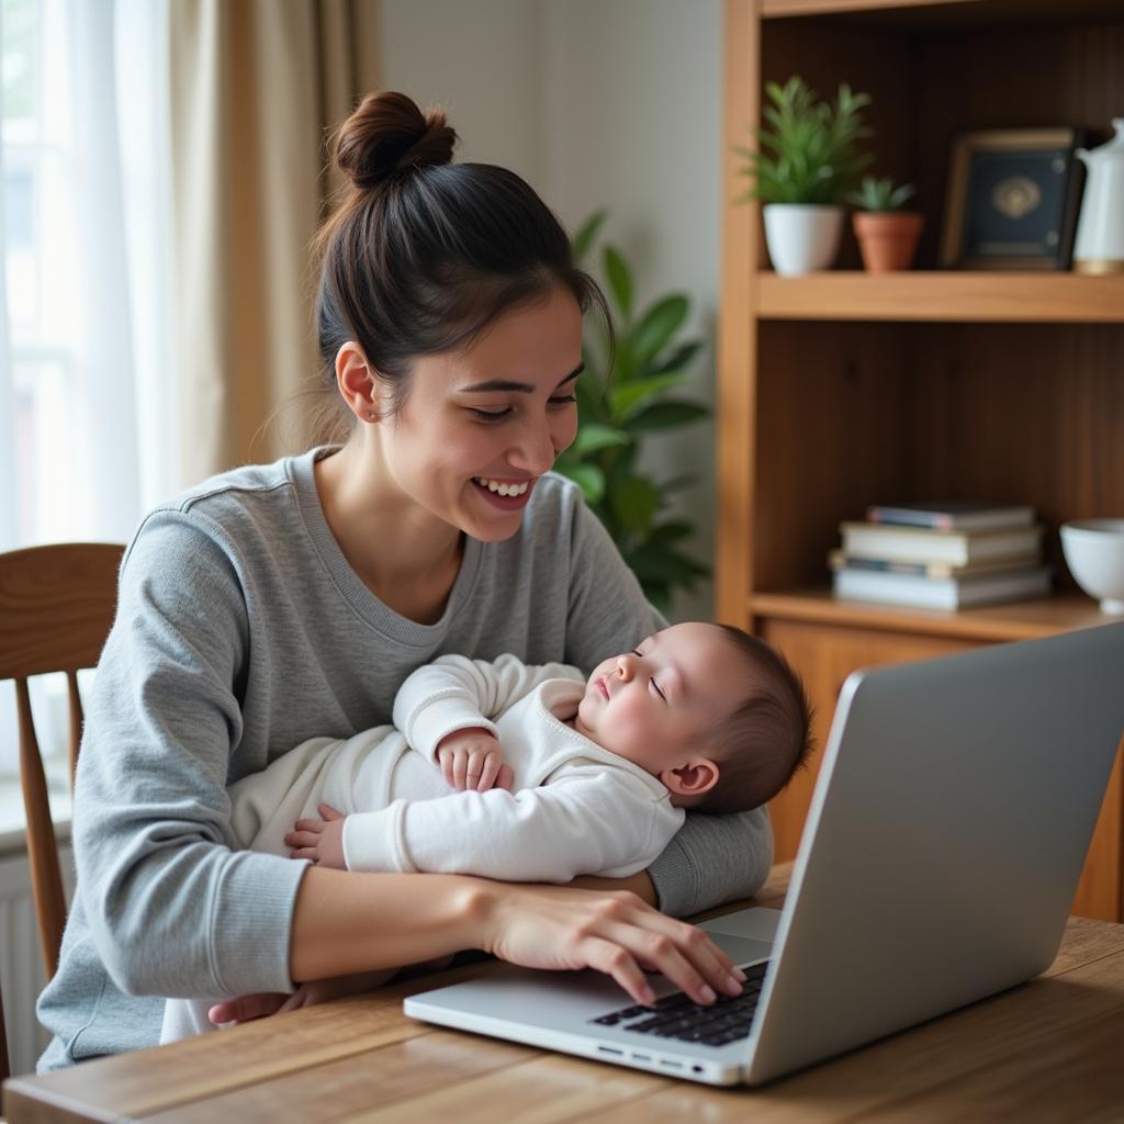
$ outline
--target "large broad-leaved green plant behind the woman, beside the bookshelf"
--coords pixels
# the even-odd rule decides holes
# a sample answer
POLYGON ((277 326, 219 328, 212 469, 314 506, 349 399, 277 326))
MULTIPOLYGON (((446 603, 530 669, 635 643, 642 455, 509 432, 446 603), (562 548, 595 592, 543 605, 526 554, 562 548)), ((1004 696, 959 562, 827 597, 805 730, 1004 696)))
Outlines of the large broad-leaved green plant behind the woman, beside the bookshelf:
MULTIPOLYGON (((573 237, 581 262, 606 212, 591 216, 573 237)), ((637 464, 646 437, 709 415, 707 406, 671 393, 687 379, 701 344, 681 339, 690 312, 682 293, 633 308, 633 271, 615 246, 601 250, 616 346, 608 334, 586 339, 586 373, 578 380, 578 436, 555 468, 575 481, 605 525, 645 595, 667 610, 677 587, 690 589, 709 570, 682 551, 694 525, 667 515, 669 498, 694 477, 656 480, 637 464)))

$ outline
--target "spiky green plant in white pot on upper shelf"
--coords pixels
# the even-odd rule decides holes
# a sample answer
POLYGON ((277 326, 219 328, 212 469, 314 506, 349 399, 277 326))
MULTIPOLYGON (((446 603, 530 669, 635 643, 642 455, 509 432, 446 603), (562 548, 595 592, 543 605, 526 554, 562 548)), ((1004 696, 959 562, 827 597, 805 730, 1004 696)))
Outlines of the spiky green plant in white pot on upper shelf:
POLYGON ((778 273, 827 269, 839 251, 843 202, 871 157, 859 152, 870 130, 862 124, 865 93, 841 84, 834 106, 821 101, 797 75, 765 84, 771 105, 759 147, 735 148, 746 160, 753 187, 738 201, 760 199, 769 256, 778 273))

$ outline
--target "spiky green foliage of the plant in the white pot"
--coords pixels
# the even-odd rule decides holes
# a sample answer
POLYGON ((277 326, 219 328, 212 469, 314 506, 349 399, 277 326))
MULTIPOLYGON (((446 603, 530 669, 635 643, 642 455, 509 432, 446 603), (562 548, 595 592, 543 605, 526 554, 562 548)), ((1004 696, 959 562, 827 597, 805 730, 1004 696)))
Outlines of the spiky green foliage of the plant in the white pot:
POLYGON ((740 174, 753 180, 738 202, 842 203, 872 158, 859 152, 870 136, 862 124, 869 94, 842 83, 831 106, 798 75, 783 85, 768 82, 765 92, 772 105, 764 109, 769 127, 756 130, 758 151, 734 149, 746 160, 740 174))

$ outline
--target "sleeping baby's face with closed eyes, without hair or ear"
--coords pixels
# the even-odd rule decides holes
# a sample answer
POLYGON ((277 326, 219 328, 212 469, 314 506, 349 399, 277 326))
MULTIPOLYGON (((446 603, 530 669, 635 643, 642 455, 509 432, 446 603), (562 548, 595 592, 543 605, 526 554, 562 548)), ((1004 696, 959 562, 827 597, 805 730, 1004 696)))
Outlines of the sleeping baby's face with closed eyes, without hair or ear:
POLYGON ((704 738, 745 697, 747 674, 714 625, 672 625, 598 664, 577 727, 658 777, 706 754, 704 738))

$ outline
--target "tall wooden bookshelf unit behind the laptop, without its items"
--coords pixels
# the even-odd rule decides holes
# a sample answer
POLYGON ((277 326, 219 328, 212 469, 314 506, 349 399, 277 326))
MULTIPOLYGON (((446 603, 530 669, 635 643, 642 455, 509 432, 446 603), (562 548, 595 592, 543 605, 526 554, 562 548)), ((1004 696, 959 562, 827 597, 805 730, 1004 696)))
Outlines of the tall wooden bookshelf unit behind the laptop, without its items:
MULTIPOLYGON (((1124 106, 1118 0, 726 0, 725 197, 744 191, 765 80, 873 97, 874 171, 918 185, 918 268, 770 266, 760 208, 724 212, 716 600, 804 676, 823 746, 858 667, 1106 623, 1069 578, 1058 527, 1124 514, 1124 277, 936 268, 953 138, 1073 124, 1107 137, 1124 106), (874 502, 1027 504, 1057 595, 960 613, 835 600, 839 525, 874 502)), ((771 806, 796 852, 818 759, 771 806)), ((892 845, 892 841, 887 841, 892 845)), ((1124 778, 1113 774, 1075 912, 1124 919, 1124 778)))

